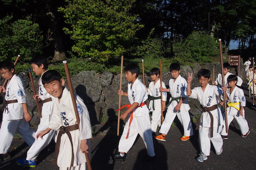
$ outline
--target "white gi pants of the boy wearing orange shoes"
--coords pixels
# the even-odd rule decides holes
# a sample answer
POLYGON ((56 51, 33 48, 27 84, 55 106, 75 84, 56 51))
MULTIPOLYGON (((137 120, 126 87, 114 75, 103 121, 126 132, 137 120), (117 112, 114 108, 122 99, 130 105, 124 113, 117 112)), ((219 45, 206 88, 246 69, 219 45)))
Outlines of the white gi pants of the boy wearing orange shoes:
POLYGON ((159 133, 163 133, 163 134, 168 133, 176 115, 183 126, 184 136, 192 136, 194 132, 193 132, 193 127, 190 121, 189 112, 186 111, 184 107, 181 107, 180 112, 175 112, 174 109, 169 109, 169 108, 167 109, 167 112, 159 133))

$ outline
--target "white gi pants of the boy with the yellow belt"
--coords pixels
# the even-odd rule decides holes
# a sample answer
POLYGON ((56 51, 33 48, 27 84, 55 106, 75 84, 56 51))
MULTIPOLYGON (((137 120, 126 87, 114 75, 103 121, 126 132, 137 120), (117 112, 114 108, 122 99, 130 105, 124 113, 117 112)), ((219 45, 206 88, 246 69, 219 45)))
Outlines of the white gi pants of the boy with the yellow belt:
MULTIPOLYGON (((241 133, 245 135, 249 131, 249 126, 247 120, 244 118, 244 113, 243 116, 239 115, 238 117, 236 115, 227 115, 228 117, 228 129, 229 125, 232 122, 232 120, 235 118, 237 124, 240 127, 241 133)), ((228 133, 226 132, 226 124, 224 124, 221 135, 223 136, 228 136, 228 133)))

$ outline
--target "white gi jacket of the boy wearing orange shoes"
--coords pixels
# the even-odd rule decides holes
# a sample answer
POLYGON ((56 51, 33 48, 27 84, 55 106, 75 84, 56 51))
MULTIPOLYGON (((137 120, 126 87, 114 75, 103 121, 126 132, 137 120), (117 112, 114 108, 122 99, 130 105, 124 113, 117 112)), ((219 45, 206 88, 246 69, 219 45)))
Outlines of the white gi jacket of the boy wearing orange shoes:
MULTIPOLYGON (((179 75, 175 82, 173 82, 174 79, 171 78, 169 80, 169 89, 170 89, 170 94, 171 94, 171 98, 170 101, 172 100, 172 97, 184 97, 185 99, 183 99, 183 103, 181 107, 184 107, 186 111, 189 111, 190 107, 189 107, 189 103, 187 100, 187 86, 188 83, 187 81, 181 76, 179 75)), ((172 103, 168 106, 168 109, 173 110, 176 106, 177 106, 177 101, 172 101, 172 103)))

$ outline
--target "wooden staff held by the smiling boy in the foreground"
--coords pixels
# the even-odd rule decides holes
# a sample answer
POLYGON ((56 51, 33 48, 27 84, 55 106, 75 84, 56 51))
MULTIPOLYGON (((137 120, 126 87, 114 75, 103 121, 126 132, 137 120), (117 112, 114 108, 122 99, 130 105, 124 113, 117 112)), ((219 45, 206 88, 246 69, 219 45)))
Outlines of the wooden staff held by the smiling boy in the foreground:
MULTIPOLYGON (((71 83, 71 78, 70 78, 69 70, 68 70, 68 67, 67 67, 67 61, 62 61, 62 62, 63 62, 63 65, 64 65, 66 76, 67 76, 67 84, 68 84, 68 88, 69 88, 69 91, 70 91, 70 94, 71 94, 71 98, 72 98, 72 102, 73 102, 73 106, 74 106, 74 113, 75 113, 77 125, 79 127, 80 117, 79 117, 78 111, 77 111, 77 106, 76 106, 76 101, 75 101, 75 97, 74 97, 73 86, 72 86, 72 83, 71 83)), ((88 170, 92 170, 92 166, 91 166, 91 163, 90 163, 90 159, 89 159, 88 153, 86 153, 86 152, 84 152, 84 153, 85 153, 85 157, 86 157, 86 163, 87 163, 88 170)))

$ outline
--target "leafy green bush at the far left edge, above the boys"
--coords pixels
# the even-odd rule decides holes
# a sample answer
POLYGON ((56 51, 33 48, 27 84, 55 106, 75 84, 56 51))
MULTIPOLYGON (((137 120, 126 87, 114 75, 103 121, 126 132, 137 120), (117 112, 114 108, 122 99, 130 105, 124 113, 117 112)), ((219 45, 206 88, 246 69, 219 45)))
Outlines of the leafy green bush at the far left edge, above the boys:
POLYGON ((13 23, 11 19, 0 19, 0 59, 14 61, 20 54, 20 60, 28 62, 42 48, 39 25, 30 21, 29 17, 13 23))

